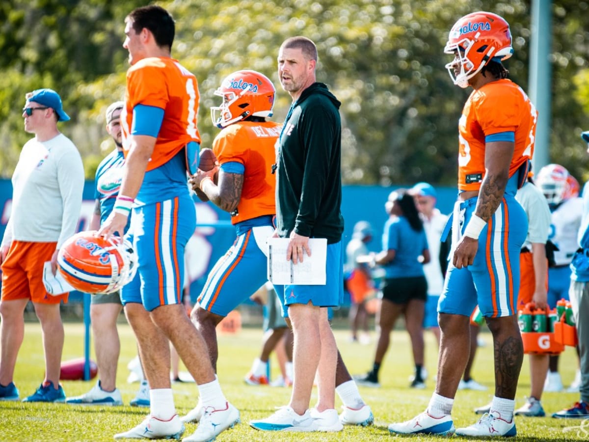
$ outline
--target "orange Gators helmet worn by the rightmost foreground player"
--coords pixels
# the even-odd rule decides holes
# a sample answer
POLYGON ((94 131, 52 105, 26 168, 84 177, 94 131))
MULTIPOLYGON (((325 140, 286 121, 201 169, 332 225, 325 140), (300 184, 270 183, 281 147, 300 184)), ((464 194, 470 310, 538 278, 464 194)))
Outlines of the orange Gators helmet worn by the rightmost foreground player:
POLYGON ((446 64, 454 84, 468 87, 468 80, 489 61, 507 60, 513 54, 509 24, 492 12, 465 15, 450 30, 444 52, 455 57, 446 64))

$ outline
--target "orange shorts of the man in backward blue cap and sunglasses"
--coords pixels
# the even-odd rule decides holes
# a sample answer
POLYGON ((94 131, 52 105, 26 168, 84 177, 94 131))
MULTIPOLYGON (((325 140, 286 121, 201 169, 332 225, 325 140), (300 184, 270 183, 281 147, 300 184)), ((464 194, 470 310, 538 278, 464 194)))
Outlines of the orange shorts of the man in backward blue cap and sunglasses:
POLYGON ((68 302, 69 293, 51 296, 43 285, 43 265, 51 260, 57 242, 12 241, 2 263, 2 301, 31 299, 39 304, 68 302))

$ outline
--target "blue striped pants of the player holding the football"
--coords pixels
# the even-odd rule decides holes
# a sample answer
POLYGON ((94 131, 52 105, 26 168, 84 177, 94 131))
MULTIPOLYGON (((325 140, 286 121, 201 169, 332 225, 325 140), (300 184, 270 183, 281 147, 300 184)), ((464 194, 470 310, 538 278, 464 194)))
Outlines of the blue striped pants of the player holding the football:
POLYGON ((227 316, 268 281, 266 239, 273 232, 272 226, 258 226, 237 236, 210 271, 198 296, 201 308, 227 316))

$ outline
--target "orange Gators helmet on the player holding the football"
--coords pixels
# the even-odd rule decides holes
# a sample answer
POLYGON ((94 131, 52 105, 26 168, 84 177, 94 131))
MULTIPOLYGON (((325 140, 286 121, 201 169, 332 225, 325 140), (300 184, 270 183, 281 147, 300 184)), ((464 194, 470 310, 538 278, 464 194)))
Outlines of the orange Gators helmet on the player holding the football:
POLYGON ((214 94, 223 97, 220 106, 211 107, 211 119, 219 128, 247 117, 272 117, 276 89, 272 81, 260 72, 233 72, 227 75, 214 94))

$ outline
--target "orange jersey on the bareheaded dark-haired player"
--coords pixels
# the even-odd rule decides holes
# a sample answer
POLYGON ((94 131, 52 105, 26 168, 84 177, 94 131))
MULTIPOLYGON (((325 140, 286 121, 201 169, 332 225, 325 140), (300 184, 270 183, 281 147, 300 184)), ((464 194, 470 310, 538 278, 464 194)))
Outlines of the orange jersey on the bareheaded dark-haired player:
POLYGON ((190 141, 200 143, 198 100, 196 77, 177 60, 150 57, 131 66, 127 71, 125 108, 121 115, 125 156, 130 149, 133 108, 138 104, 164 110, 148 171, 167 163, 190 141))

